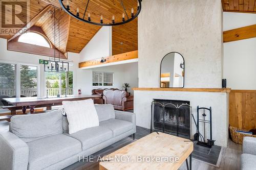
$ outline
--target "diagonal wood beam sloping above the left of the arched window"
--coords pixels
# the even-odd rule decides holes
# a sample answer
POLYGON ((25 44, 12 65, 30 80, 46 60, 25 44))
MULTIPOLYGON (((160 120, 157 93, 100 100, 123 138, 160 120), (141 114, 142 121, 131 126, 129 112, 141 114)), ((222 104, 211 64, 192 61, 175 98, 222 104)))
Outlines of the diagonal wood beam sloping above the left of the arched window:
POLYGON ((45 9, 40 11, 33 19, 31 19, 22 29, 20 29, 16 34, 14 34, 9 41, 16 38, 17 36, 21 35, 22 33, 25 33, 28 29, 30 29, 32 26, 35 25, 35 23, 45 15, 46 12, 49 12, 52 8, 52 5, 48 5, 45 9))

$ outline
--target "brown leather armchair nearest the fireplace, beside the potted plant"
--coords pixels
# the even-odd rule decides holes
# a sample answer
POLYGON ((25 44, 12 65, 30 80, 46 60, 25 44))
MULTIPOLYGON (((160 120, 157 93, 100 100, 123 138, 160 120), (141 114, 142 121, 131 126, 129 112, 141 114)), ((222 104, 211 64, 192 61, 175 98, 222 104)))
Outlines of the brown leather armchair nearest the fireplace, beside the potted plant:
POLYGON ((104 90, 103 91, 104 104, 112 104, 117 110, 131 110, 133 109, 133 96, 123 90, 104 90))

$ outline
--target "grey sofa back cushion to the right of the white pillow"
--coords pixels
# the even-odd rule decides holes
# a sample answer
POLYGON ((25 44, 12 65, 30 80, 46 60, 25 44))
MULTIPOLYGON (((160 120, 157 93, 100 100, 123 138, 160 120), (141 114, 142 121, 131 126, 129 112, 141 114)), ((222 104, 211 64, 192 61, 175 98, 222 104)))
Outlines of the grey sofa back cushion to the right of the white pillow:
POLYGON ((113 105, 94 105, 97 111, 99 122, 115 118, 115 110, 113 105))

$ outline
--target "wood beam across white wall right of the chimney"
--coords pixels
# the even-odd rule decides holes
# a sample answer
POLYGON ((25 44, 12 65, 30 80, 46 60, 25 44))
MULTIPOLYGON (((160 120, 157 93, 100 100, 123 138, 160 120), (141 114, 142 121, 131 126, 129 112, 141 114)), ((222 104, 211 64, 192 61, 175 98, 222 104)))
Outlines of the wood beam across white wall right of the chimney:
POLYGON ((223 42, 238 41, 256 37, 256 25, 223 32, 223 42))

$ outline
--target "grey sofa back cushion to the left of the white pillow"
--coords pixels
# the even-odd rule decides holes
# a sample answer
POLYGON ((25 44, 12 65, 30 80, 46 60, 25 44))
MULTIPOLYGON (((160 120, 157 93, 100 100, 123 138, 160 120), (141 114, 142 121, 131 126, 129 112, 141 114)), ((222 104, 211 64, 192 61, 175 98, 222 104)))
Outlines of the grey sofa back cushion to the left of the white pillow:
POLYGON ((41 137, 62 133, 62 117, 60 110, 47 113, 15 115, 11 117, 12 133, 29 142, 41 137))

